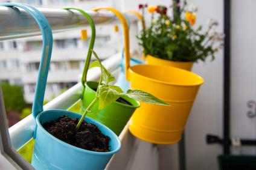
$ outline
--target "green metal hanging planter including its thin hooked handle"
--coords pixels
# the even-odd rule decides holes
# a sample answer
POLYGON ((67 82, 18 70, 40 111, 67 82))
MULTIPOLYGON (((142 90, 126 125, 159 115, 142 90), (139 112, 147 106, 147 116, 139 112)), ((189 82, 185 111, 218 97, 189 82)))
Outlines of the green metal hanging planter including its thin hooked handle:
MULTIPOLYGON (((93 49, 95 41, 94 22, 90 22, 90 25, 92 28, 92 37, 89 44, 89 49, 93 49)), ((81 114, 85 111, 85 108, 89 106, 92 100, 94 100, 98 87, 98 82, 87 82, 86 80, 89 62, 91 61, 91 55, 91 50, 88 50, 85 68, 82 75, 83 93, 82 108, 80 109, 81 114)), ((130 97, 120 97, 117 102, 113 102, 103 109, 98 109, 98 105, 99 102, 95 103, 94 107, 91 109, 92 112, 88 113, 88 117, 93 118, 94 120, 97 120, 105 126, 109 127, 109 129, 113 130, 116 135, 120 135, 121 131, 124 129, 124 126, 126 126, 135 109, 139 107, 139 102, 131 99, 130 97)))

